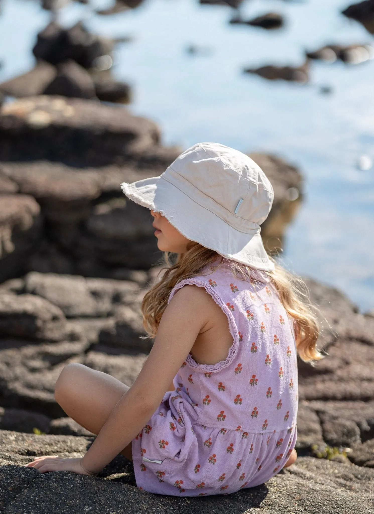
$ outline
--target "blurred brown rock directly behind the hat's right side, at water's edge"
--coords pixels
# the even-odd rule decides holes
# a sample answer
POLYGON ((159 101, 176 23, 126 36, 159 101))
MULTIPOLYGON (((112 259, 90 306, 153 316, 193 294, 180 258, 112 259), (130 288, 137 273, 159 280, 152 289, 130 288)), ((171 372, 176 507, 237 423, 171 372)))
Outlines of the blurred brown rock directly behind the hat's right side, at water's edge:
POLYGON ((303 176, 295 166, 275 155, 253 152, 249 156, 264 171, 274 189, 269 216, 261 225, 261 236, 270 253, 284 249, 284 234, 300 207, 303 176))

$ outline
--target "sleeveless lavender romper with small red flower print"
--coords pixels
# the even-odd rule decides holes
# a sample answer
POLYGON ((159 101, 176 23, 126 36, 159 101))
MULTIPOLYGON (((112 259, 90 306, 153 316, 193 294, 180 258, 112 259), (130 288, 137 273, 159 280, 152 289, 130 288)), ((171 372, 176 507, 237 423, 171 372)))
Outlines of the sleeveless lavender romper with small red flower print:
MULTIPOLYGON (((224 261, 225 263, 225 261, 224 261)), ((293 324, 264 273, 233 277, 225 264, 179 282, 204 287, 229 321, 225 361, 189 354, 158 410, 133 439, 136 483, 149 492, 228 494, 263 484, 296 443, 297 360, 293 324)))

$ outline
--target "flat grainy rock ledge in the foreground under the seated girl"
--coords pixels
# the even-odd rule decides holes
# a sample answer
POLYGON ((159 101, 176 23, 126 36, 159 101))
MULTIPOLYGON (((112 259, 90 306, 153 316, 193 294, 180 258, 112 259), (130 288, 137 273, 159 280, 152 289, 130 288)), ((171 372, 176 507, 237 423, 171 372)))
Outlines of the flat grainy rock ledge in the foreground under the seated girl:
POLYGON ((34 455, 82 455, 92 438, 0 430, 0 512, 6 514, 370 514, 374 469, 300 457, 266 484, 222 496, 179 498, 136 487, 132 464, 118 456, 98 477, 21 467, 34 455))

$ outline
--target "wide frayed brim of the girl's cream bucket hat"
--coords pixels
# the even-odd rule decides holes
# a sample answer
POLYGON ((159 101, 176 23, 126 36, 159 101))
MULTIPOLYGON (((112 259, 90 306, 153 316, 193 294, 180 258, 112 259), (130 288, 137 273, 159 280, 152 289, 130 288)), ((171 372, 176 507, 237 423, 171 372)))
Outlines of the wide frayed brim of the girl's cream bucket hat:
POLYGON ((263 271, 274 269, 259 228, 246 232, 233 228, 162 176, 123 182, 121 188, 135 203, 162 214, 189 240, 252 268, 263 271))

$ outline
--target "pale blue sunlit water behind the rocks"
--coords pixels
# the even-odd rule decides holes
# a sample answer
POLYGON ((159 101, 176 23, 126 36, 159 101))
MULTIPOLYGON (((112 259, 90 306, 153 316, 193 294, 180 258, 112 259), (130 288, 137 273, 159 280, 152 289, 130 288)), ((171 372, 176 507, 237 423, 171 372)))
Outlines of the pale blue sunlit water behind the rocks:
MULTIPOLYGON (((353 0, 352 2, 353 3, 353 0)), ((3 0, 0 80, 33 64, 35 34, 49 21, 32 0, 3 0)), ((109 2, 96 2, 97 6, 109 2)), ((297 273, 341 288, 362 311, 374 308, 374 60, 355 66, 312 63, 307 85, 268 82, 244 67, 301 64, 304 49, 374 38, 340 11, 349 0, 252 0, 245 17, 283 13, 284 29, 229 25, 229 7, 196 0, 146 0, 113 16, 66 6, 60 22, 84 17, 102 35, 132 35, 114 54, 113 75, 134 86, 130 109, 155 120, 165 144, 187 147, 218 141, 248 151, 272 152, 299 166, 305 200, 285 237, 283 260, 297 273), (191 56, 186 47, 204 50, 191 56), (321 95, 328 85, 332 94, 321 95)))

